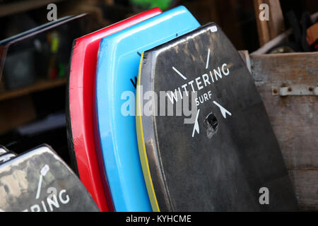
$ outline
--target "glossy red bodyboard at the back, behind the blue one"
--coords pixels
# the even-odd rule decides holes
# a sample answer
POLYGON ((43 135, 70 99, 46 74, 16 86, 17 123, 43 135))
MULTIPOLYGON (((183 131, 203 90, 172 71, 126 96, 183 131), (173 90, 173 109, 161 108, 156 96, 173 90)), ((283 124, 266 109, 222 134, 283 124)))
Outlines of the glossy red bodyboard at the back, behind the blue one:
POLYGON ((113 211, 107 186, 96 123, 95 76, 98 47, 102 37, 112 35, 131 25, 161 13, 160 8, 139 13, 106 28, 79 37, 74 41, 69 75, 68 133, 70 149, 76 161, 78 174, 101 211, 113 211))

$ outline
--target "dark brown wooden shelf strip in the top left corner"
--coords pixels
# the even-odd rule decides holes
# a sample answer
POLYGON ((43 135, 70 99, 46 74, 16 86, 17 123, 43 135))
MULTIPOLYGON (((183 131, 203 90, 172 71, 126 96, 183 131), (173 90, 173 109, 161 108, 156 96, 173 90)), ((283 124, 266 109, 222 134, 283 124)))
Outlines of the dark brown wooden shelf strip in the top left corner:
POLYGON ((29 0, 1 4, 0 17, 32 10, 34 8, 40 8, 42 6, 47 6, 50 3, 57 3, 59 1, 65 0, 29 0))

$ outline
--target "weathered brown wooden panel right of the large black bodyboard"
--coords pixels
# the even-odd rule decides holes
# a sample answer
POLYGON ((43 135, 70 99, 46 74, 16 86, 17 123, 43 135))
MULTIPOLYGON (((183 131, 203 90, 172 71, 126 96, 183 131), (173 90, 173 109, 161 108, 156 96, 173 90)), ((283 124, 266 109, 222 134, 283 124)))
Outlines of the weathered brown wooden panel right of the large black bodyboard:
POLYGON ((318 97, 272 95, 272 86, 316 87, 318 53, 249 57, 255 85, 281 147, 300 209, 318 210, 318 97))

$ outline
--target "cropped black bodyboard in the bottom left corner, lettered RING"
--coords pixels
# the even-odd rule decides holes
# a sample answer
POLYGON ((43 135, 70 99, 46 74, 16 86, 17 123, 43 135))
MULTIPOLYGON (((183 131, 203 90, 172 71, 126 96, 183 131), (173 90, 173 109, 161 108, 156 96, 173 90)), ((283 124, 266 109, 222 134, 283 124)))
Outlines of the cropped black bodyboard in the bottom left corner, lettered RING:
POLYGON ((0 165, 1 211, 99 211, 93 198, 47 145, 0 165))

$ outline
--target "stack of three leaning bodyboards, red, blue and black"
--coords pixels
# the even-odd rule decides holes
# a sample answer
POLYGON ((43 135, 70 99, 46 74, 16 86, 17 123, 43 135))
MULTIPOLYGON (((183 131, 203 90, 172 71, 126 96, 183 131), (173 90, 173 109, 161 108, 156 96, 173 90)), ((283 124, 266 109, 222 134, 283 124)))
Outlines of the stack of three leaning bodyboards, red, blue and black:
POLYGON ((183 6, 76 39, 67 107, 73 164, 102 211, 298 210, 244 61, 183 6))

